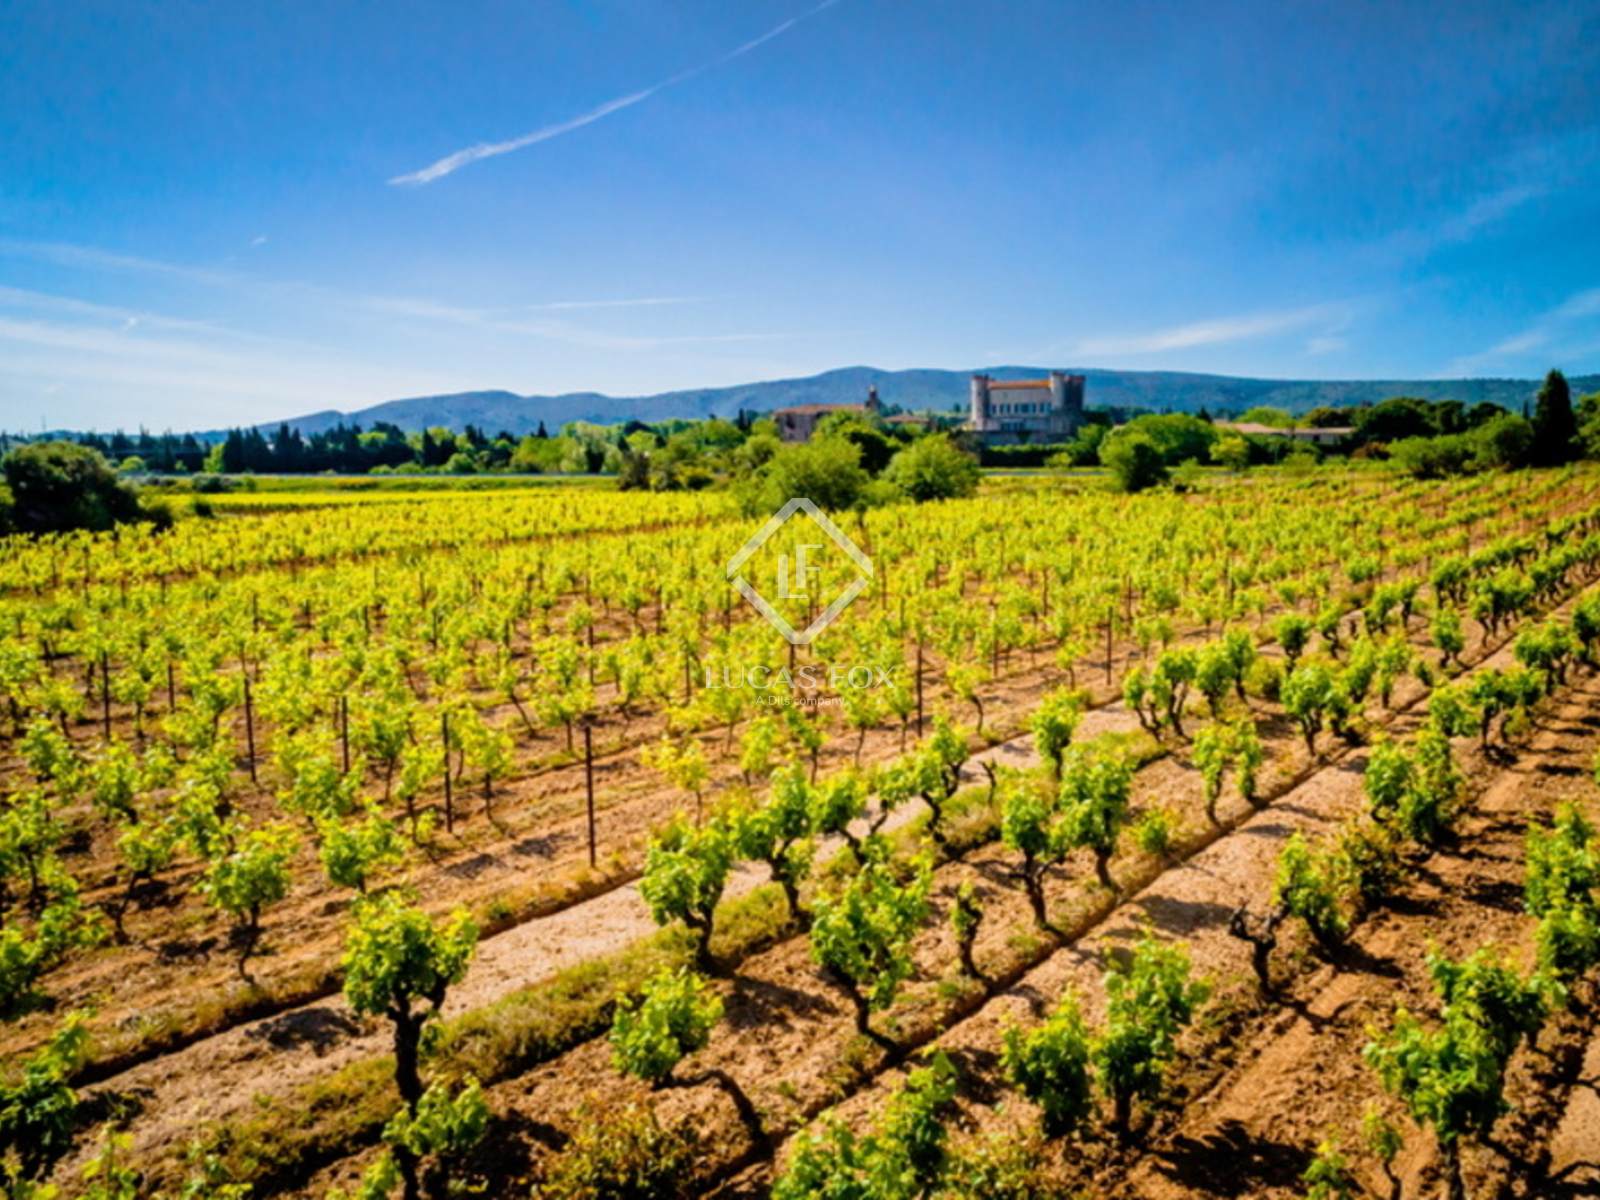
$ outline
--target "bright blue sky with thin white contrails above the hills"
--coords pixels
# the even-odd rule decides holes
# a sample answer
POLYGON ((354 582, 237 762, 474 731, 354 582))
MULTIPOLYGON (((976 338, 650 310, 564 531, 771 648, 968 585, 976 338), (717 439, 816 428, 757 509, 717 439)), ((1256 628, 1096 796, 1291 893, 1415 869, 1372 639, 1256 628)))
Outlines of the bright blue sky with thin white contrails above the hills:
POLYGON ((0 426, 1597 371, 1597 78, 1595 3, 0 2, 0 426))

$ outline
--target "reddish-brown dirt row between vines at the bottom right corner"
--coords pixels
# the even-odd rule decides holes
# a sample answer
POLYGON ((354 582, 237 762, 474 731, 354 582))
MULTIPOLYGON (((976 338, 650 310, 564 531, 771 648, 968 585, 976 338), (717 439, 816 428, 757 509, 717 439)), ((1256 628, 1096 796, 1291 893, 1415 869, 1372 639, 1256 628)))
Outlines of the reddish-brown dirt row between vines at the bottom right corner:
MULTIPOLYGON (((1597 746, 1600 678, 1590 675, 1536 720, 1512 763, 1475 765, 1474 776, 1486 786, 1459 822, 1458 838, 1414 866, 1398 896, 1357 926, 1342 960, 1325 965, 1302 955, 1304 970, 1283 1002, 1242 1022, 1250 1026, 1246 1037, 1203 1043, 1205 1066, 1184 1072, 1192 1098, 1163 1117, 1147 1154, 1131 1165, 1114 1163, 1096 1184, 1107 1195, 1141 1200, 1242 1194, 1290 1200, 1304 1194, 1299 1173, 1318 1141, 1336 1134, 1363 1182, 1382 1195, 1382 1173, 1360 1150, 1362 1112, 1376 1102, 1405 1133, 1395 1165, 1405 1194, 1440 1189, 1434 1138, 1384 1096, 1362 1059, 1368 1029, 1387 1027, 1398 1003, 1424 1019, 1437 1014, 1429 947, 1459 960, 1493 944, 1522 970, 1531 968, 1536 922, 1522 904, 1525 835, 1566 800, 1594 813, 1589 768, 1597 746)), ((1470 1195, 1555 1200, 1595 1194, 1595 1072, 1592 1062, 1579 1067, 1597 1019, 1579 989, 1573 1011, 1552 1018, 1538 1048, 1523 1046, 1512 1058, 1506 1080, 1512 1112, 1501 1118, 1491 1146, 1469 1144, 1464 1155, 1470 1195), (1576 1190, 1584 1184, 1587 1190, 1576 1190)))

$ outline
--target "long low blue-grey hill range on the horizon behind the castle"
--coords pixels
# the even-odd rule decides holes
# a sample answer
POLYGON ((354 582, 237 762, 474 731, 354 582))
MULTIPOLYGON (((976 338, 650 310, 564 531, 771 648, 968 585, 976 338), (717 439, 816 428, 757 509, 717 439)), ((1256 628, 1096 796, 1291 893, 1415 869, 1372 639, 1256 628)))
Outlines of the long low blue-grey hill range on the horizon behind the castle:
MULTIPOLYGON (((997 378, 1040 376, 1042 366, 979 368, 997 378)), ((1392 395, 1414 395, 1424 400, 1482 400, 1520 410, 1539 387, 1536 379, 1248 379, 1227 374, 1194 374, 1187 371, 1107 371, 1080 370, 1086 376, 1085 402, 1091 408, 1150 408, 1194 413, 1200 408, 1227 408, 1240 413, 1256 405, 1304 413, 1320 405, 1376 403, 1392 395)), ((389 421, 405 430, 427 426, 459 429, 478 426, 490 434, 509 429, 526 434, 539 422, 555 432, 566 421, 614 422, 638 419, 646 422, 672 418, 733 416, 741 408, 768 413, 774 408, 808 403, 859 403, 869 386, 878 389, 883 403, 902 408, 950 408, 966 405, 971 371, 909 370, 883 371, 875 366, 843 366, 803 379, 770 379, 734 387, 699 387, 658 395, 616 397, 602 392, 566 392, 562 395, 517 395, 515 392, 454 392, 451 395, 419 395, 410 400, 387 400, 371 408, 341 413, 325 410, 290 419, 302 434, 331 429, 344 421, 370 427, 389 421)), ((1573 395, 1600 390, 1600 376, 1573 376, 1573 395)), ((277 421, 262 429, 277 427, 277 421)))

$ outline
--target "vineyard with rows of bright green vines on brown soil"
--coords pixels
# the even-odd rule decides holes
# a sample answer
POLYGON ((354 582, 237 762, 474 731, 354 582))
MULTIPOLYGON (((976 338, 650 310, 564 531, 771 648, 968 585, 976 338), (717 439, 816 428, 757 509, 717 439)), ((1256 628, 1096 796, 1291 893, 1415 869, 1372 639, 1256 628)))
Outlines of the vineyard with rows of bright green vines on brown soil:
POLYGON ((1600 1190, 1594 470, 835 520, 0 542, 6 1194, 1600 1190))

